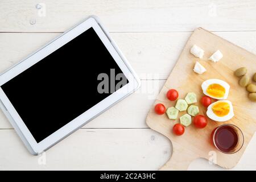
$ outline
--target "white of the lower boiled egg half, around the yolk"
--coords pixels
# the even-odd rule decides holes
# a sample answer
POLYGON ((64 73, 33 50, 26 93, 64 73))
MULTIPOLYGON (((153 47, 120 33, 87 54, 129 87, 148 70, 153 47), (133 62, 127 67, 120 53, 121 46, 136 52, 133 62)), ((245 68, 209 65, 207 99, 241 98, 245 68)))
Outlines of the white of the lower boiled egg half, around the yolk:
POLYGON ((213 121, 218 121, 218 122, 224 122, 224 121, 228 121, 229 119, 233 118, 234 116, 234 110, 233 110, 233 105, 232 102, 228 101, 228 100, 221 100, 221 101, 216 101, 213 102, 212 104, 210 104, 207 107, 207 116, 212 119, 213 121), (226 102, 229 104, 229 113, 227 115, 225 115, 224 117, 219 117, 216 114, 213 113, 212 107, 213 105, 217 104, 217 102, 226 102))

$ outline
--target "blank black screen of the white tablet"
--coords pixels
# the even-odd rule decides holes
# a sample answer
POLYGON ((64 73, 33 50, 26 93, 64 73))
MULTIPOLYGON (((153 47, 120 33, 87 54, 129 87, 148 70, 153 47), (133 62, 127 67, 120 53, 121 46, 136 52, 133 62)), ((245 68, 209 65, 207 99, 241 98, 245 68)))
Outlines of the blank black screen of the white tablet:
POLYGON ((89 28, 1 88, 40 142, 127 84, 122 75, 101 39, 89 28))

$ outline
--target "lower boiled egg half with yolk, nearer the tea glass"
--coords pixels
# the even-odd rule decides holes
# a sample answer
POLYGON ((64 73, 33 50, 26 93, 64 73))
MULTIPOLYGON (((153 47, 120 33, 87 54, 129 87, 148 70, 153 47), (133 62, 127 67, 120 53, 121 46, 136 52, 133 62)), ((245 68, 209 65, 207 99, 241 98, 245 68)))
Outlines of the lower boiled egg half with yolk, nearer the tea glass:
POLYGON ((213 102, 207 108, 207 116, 218 122, 228 121, 234 116, 232 102, 227 100, 213 102))

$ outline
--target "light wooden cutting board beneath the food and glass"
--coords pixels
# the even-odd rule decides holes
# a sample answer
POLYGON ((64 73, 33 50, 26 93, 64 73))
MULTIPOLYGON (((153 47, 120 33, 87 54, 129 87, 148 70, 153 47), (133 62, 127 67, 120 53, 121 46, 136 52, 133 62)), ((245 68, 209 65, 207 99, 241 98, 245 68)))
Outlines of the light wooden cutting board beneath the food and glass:
MULTIPOLYGON (((256 102, 247 98, 246 89, 238 85, 239 78, 234 76, 234 71, 240 67, 246 67, 247 74, 253 77, 256 72, 256 55, 203 28, 197 28, 193 32, 146 119, 151 129, 165 135, 172 143, 171 159, 161 168, 162 170, 185 170, 196 158, 213 159, 214 157, 218 166, 223 168, 236 166, 256 130, 256 102), (193 44, 204 49, 202 59, 190 53, 193 44), (213 63, 208 58, 217 49, 220 49, 224 57, 218 63, 213 63), (203 75, 193 72, 196 61, 207 69, 203 75), (171 88, 178 90, 179 98, 184 98, 188 92, 195 92, 197 100, 200 100, 203 96, 201 84, 209 78, 218 78, 230 85, 228 100, 233 103, 234 117, 227 122, 214 122, 208 119, 208 125, 204 129, 196 129, 192 124, 185 128, 182 136, 174 135, 172 126, 179 123, 180 115, 185 114, 186 111, 179 112, 179 117, 173 121, 168 119, 166 114, 155 114, 155 104, 162 103, 166 107, 175 106, 176 101, 169 101, 166 98, 166 93, 171 88), (235 154, 224 154, 210 144, 210 133, 215 127, 224 123, 232 123, 243 132, 245 138, 243 147, 235 154)), ((200 108, 200 114, 206 116, 206 108, 200 102, 196 105, 200 108)))

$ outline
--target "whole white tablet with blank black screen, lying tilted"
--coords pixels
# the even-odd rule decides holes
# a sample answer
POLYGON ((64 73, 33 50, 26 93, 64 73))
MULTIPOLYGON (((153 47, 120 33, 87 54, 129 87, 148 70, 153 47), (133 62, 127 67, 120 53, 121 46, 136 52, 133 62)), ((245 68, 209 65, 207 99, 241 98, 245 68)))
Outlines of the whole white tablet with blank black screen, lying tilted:
POLYGON ((0 106, 37 155, 139 86, 108 32, 90 16, 2 73, 0 106))

